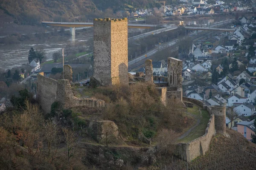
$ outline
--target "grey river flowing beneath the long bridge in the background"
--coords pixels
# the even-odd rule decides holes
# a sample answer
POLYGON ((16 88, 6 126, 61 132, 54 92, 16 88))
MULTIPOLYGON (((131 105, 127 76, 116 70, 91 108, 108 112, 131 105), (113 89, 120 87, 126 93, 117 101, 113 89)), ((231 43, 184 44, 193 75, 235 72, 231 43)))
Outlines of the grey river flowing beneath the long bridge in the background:
MULTIPOLYGON (((188 20, 184 21, 186 25, 190 24, 201 24, 201 23, 215 23, 228 20, 228 18, 216 18, 216 19, 205 19, 200 20, 188 20)), ((175 22, 171 22, 172 24, 175 22)), ((177 23, 177 21, 176 21, 177 23)), ((36 41, 25 41, 19 44, 12 45, 1 45, 0 46, 0 71, 11 69, 28 62, 28 53, 29 49, 33 47, 34 49, 44 50, 45 59, 51 60, 52 54, 55 51, 65 48, 67 45, 77 46, 78 44, 87 46, 90 38, 93 37, 93 29, 87 29, 83 34, 76 34, 76 39, 72 36, 52 36, 51 38, 42 38, 41 40, 36 41)))

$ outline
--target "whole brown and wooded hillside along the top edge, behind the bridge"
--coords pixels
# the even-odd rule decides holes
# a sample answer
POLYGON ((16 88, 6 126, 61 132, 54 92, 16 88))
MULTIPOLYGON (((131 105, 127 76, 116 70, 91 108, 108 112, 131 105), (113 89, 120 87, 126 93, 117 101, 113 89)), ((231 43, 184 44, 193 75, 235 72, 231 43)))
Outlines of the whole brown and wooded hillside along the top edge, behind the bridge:
MULTIPOLYGON (((0 20, 6 15, 18 25, 36 25, 40 20, 72 20, 74 17, 97 13, 98 10, 128 10, 159 6, 154 0, 1 0, 0 20), (128 4, 130 5, 128 5, 128 4), (133 6, 131 6, 133 5, 133 6)), ((9 18, 8 18, 8 21, 9 18)))

